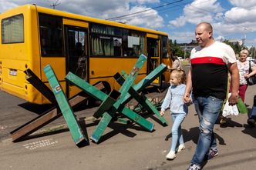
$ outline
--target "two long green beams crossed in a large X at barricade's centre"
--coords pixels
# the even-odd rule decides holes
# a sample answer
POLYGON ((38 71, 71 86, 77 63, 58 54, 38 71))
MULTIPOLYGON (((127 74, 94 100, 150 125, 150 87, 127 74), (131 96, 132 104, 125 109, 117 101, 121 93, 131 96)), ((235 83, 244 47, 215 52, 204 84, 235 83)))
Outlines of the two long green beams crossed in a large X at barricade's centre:
MULTIPOLYGON (((131 85, 133 85, 133 82, 136 76, 140 72, 140 69, 143 67, 143 64, 146 62, 146 60, 147 60, 147 57, 145 55, 140 55, 140 58, 137 60, 132 71, 127 76, 126 81, 123 83, 122 87, 120 88, 120 93, 121 93, 120 98, 113 104, 113 107, 109 108, 109 110, 107 110, 103 114, 103 118, 101 118, 101 121, 99 122, 95 131, 93 132, 91 139, 94 142, 99 141, 99 138, 103 135, 103 132, 105 131, 107 125, 109 124, 111 119, 115 116, 117 111, 123 113, 123 115, 126 115, 127 118, 130 118, 137 124, 141 125, 143 128, 146 128, 149 131, 153 130, 153 124, 151 122, 148 122, 145 118, 141 117, 140 115, 137 115, 135 112, 130 111, 129 108, 125 108, 123 105, 121 105, 123 98, 125 98, 131 85)), ((69 72, 68 75, 66 75, 66 79, 69 82, 72 82, 73 84, 77 85, 79 88, 83 89, 87 95, 90 95, 93 98, 97 98, 103 102, 108 98, 108 95, 106 95, 103 92, 99 92, 94 88, 91 88, 91 85, 83 81, 83 79, 79 78, 78 76, 72 74, 71 72, 69 72)), ((106 110, 106 109, 103 108, 102 110, 106 110)))

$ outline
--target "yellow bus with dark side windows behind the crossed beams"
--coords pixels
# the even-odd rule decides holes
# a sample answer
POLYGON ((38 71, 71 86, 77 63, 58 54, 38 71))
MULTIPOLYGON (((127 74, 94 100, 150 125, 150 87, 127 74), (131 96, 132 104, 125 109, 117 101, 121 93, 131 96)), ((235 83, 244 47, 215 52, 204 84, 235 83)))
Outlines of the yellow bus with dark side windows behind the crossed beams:
MULTIPOLYGON (((43 68, 51 65, 71 98, 80 90, 65 81, 68 72, 92 85, 103 82, 109 92, 120 88, 113 75, 121 70, 129 73, 140 54, 148 59, 136 82, 163 60, 171 64, 164 32, 36 5, 12 8, 0 14, 0 20, 0 88, 31 103, 49 101, 25 80, 28 68, 49 86, 43 68)), ((154 83, 168 81, 168 75, 161 77, 154 83)))

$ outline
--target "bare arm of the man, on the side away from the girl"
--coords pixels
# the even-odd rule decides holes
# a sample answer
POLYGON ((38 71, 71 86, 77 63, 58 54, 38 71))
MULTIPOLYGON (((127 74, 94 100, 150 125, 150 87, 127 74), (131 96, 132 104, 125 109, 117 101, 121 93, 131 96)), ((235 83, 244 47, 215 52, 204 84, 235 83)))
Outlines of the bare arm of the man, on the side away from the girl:
POLYGON ((231 73, 231 97, 228 98, 230 105, 236 105, 238 102, 238 90, 239 90, 239 72, 237 68, 237 62, 228 65, 229 72, 231 73))

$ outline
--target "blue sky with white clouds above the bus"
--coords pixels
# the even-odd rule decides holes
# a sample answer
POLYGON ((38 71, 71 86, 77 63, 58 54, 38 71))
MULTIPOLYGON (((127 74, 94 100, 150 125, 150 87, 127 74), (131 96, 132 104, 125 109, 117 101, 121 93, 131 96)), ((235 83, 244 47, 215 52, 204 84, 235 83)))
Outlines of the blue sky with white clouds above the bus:
POLYGON ((152 28, 177 43, 191 42, 196 25, 210 22, 215 39, 256 46, 256 0, 0 0, 0 13, 25 4, 152 28))

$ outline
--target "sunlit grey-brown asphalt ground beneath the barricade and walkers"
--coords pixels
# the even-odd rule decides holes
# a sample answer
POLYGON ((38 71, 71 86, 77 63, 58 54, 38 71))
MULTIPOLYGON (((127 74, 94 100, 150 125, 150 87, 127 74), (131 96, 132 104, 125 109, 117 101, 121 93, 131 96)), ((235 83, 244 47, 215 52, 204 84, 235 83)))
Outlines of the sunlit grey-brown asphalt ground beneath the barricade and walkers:
MULTIPOLYGON (((245 102, 248 110, 256 95, 256 85, 249 87, 245 102)), ((145 115, 153 122, 154 131, 147 132, 139 125, 123 125, 111 122, 99 144, 78 148, 72 141, 69 130, 63 126, 55 132, 31 135, 22 142, 12 142, 9 135, 13 129, 35 118, 47 106, 32 106, 20 98, 0 92, 0 169, 83 169, 83 170, 163 170, 187 169, 194 154, 198 137, 198 120, 194 115, 194 105, 182 125, 186 148, 173 161, 167 161, 171 142, 170 115, 165 118, 168 126, 160 125, 153 115, 145 115)), ((76 112, 81 118, 89 117, 96 108, 76 112)), ((219 155, 206 162, 204 169, 255 169, 256 168, 256 128, 246 124, 247 115, 231 116, 225 126, 215 125, 219 155)), ((43 129, 63 125, 62 118, 43 129)), ((86 122, 90 136, 96 127, 92 121, 86 122)), ((40 130, 39 130, 40 131, 40 130)))

